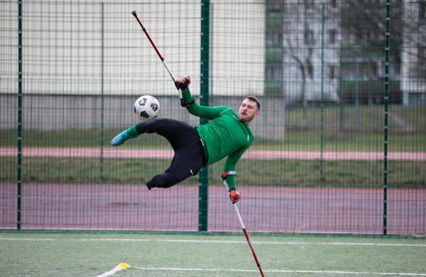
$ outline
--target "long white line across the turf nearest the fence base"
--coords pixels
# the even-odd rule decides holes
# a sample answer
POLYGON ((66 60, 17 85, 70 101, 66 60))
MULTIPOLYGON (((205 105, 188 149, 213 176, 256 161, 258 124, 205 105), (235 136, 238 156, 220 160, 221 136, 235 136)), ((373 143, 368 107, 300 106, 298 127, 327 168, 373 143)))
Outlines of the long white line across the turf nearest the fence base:
MULTIPOLYGON (((214 239, 52 239, 31 237, 0 237, 1 240, 15 241, 80 241, 80 242, 172 242, 172 243, 214 243, 214 244, 246 244, 245 240, 214 240, 214 239)), ((275 245, 336 245, 336 246, 371 246, 371 247, 426 247, 426 244, 400 244, 400 243, 373 243, 373 242, 251 242, 251 244, 275 244, 275 245)))

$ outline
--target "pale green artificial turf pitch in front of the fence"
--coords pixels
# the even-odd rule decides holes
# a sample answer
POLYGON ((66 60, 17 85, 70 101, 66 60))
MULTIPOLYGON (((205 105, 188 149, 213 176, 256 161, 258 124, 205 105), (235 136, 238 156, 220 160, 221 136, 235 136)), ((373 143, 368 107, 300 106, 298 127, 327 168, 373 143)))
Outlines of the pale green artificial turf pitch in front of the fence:
MULTIPOLYGON (((251 242, 266 276, 426 272, 425 239, 251 234, 251 242)), ((132 268, 114 276, 260 275, 243 234, 0 232, 0 261, 4 276, 98 276, 121 262, 132 268)))

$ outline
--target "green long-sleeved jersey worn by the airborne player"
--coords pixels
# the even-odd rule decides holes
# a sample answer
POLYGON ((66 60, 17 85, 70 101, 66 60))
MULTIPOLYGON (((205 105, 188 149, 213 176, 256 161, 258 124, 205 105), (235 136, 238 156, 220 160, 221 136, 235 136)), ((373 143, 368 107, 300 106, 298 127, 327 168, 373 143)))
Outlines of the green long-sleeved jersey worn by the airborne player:
MULTIPOLYGON (((185 102, 192 100, 190 91, 182 91, 185 102)), ((204 144, 207 164, 214 164, 226 157, 224 172, 235 171, 236 163, 254 141, 250 126, 238 120, 236 111, 226 106, 200 106, 197 102, 187 106, 187 110, 200 118, 211 120, 197 125, 197 132, 204 144)), ((235 188, 235 176, 226 177, 229 188, 235 188)))

